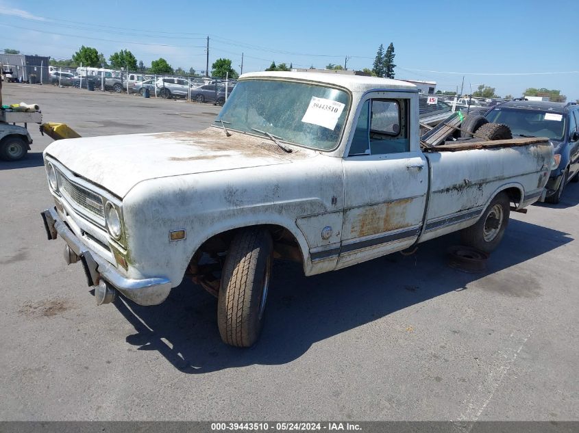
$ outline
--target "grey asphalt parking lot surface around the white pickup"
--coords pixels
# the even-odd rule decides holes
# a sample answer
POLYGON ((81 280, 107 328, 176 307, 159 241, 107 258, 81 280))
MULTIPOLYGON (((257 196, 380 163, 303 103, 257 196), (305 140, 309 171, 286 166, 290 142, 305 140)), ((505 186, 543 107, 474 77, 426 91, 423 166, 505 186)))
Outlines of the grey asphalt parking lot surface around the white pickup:
MULTIPOLYGON (((219 111, 20 84, 3 101, 85 136, 203 129, 219 111)), ((238 350, 193 283, 159 306, 96 306, 46 239, 51 139, 29 131, 27 159, 0 162, 0 419, 579 419, 578 184, 511 213, 482 274, 447 266, 457 235, 308 278, 278 263, 262 337, 238 350)))

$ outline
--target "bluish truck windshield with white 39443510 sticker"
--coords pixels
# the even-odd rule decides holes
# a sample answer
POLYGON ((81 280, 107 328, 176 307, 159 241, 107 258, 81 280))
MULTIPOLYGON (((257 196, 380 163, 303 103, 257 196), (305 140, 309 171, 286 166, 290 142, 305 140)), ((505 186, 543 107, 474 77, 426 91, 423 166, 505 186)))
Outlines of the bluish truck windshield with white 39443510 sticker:
POLYGON ((337 146, 349 108, 343 90, 293 81, 239 81, 221 113, 227 129, 275 135, 278 140, 330 150, 337 146))

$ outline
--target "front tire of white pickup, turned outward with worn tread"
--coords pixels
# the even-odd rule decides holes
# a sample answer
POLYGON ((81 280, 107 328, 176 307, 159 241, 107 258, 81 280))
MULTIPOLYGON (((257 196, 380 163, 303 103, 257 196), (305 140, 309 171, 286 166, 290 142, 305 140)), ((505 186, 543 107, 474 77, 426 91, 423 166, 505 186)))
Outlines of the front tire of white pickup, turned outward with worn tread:
POLYGON ((271 277, 273 243, 264 228, 245 228, 233 239, 219 287, 217 324, 224 343, 251 347, 258 340, 271 277))

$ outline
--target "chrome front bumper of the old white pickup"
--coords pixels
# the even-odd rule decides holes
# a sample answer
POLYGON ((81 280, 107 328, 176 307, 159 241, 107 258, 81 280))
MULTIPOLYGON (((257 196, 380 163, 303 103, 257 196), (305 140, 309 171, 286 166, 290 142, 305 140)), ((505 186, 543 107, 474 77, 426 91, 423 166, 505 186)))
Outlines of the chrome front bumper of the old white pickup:
MULTIPOLYGON (((171 281, 168 278, 154 277, 138 280, 127 278, 99 254, 87 248, 62 221, 56 209, 47 209, 40 214, 44 220, 48 239, 53 240, 60 235, 70 250, 80 258, 89 286, 98 285, 101 279, 106 280, 124 296, 140 305, 160 304, 169 296, 171 281)), ((65 252, 65 257, 68 254, 65 252)), ((67 263, 75 263, 75 261, 69 259, 67 263)))

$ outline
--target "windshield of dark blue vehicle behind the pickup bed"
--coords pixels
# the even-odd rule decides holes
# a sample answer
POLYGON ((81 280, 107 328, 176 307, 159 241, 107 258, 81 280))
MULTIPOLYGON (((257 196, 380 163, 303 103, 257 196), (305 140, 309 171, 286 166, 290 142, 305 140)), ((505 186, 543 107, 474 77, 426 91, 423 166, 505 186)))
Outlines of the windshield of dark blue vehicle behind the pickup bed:
POLYGON ((495 108, 486 114, 489 122, 504 123, 513 135, 547 137, 563 140, 565 117, 560 113, 537 109, 495 108))

